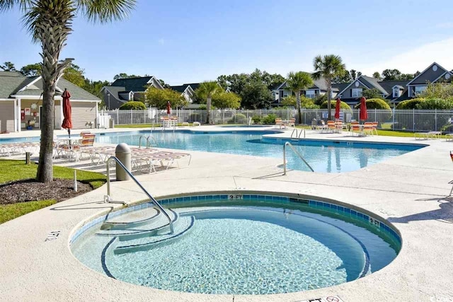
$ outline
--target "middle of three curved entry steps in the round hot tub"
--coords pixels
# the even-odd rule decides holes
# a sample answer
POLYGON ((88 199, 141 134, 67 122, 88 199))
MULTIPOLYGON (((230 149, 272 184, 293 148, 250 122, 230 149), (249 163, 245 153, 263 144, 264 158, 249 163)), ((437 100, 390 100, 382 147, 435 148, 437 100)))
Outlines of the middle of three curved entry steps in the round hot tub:
MULTIPOLYGON (((178 220, 178 214, 171 210, 166 209, 171 221, 178 220)), ((139 221, 138 223, 125 223, 120 227, 103 226, 101 230, 96 233, 98 236, 118 236, 120 240, 130 240, 139 238, 140 236, 151 236, 155 233, 167 231, 168 219, 162 212, 154 216, 152 219, 146 221, 139 221)))

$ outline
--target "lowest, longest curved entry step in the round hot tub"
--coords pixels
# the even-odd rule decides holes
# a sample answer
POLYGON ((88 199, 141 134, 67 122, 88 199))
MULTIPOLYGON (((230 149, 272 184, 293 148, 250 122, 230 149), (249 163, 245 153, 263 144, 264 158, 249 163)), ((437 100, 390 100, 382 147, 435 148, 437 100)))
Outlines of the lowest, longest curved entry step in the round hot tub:
POLYGON ((161 235, 148 236, 146 238, 136 238, 128 242, 127 245, 118 246, 113 250, 115 254, 123 254, 125 252, 137 252, 142 250, 150 250, 160 245, 173 243, 178 238, 190 231, 195 223, 194 216, 180 217, 176 223, 173 223, 173 233, 165 233, 161 235))

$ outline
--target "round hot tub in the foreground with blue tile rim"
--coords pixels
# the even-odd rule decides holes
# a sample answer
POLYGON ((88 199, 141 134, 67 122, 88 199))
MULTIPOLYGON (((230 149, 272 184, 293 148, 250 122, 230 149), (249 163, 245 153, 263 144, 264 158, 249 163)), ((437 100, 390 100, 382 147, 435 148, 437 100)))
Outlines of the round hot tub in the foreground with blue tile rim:
POLYGON ((152 204, 141 204, 77 230, 71 251, 84 265, 132 284, 203 294, 277 294, 365 277, 401 248, 388 223, 344 204, 242 193, 174 197, 161 204, 173 209, 173 234, 167 229, 141 236, 140 230, 156 226, 139 216, 152 204), (131 214, 141 224, 103 227, 131 214), (128 228, 135 233, 126 233, 128 228))

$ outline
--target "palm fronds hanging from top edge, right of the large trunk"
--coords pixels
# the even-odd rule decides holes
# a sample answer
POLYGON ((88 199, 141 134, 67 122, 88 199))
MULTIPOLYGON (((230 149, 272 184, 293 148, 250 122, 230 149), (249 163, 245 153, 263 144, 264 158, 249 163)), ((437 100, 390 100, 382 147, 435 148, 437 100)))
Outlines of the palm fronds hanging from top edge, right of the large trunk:
POLYGON ((78 0, 77 8, 89 21, 108 23, 129 16, 136 0, 78 0))

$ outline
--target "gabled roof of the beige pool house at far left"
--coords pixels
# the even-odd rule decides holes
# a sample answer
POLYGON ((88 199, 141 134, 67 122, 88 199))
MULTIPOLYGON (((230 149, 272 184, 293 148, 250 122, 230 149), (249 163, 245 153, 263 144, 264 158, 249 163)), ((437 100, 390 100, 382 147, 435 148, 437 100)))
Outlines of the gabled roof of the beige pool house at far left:
MULTIPOLYGON (((64 88, 71 92, 72 100, 99 100, 88 91, 84 91, 84 89, 63 78, 57 81, 55 95, 61 95, 64 88)), ((27 77, 18 72, 2 71, 0 73, 0 98, 11 98, 13 95, 33 95, 38 97, 42 95, 41 76, 27 77)))

